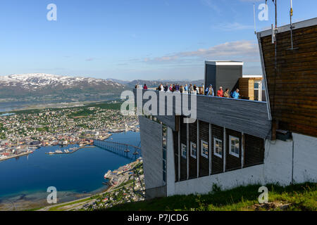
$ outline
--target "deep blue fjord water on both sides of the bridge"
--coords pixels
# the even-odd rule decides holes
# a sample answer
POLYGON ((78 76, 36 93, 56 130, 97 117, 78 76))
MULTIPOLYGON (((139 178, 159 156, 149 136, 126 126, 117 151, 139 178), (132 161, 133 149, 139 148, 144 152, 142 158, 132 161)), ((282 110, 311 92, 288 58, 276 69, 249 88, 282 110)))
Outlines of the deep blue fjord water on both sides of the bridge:
MULTIPOLYGON (((139 145, 139 133, 128 131, 113 134, 106 141, 139 145)), ((62 148, 68 149, 75 146, 62 148)), ((58 193, 94 193, 105 189, 102 184, 108 169, 131 162, 128 158, 98 148, 82 148, 72 154, 47 155, 58 150, 59 146, 42 147, 28 156, 13 158, 0 162, 0 205, 1 200, 19 197, 27 199, 28 195, 42 193, 47 196, 46 189, 55 186, 58 193)), ((58 198, 63 200, 63 196, 58 198)), ((29 200, 32 200, 29 198, 29 200)), ((66 198, 65 198, 66 200, 66 198)), ((67 199, 67 200, 70 200, 67 199)))

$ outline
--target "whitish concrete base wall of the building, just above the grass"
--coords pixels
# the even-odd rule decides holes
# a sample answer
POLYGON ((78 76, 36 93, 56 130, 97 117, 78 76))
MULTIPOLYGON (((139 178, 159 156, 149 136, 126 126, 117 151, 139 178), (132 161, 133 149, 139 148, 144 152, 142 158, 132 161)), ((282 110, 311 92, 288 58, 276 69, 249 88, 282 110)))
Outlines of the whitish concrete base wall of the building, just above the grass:
POLYGON ((274 183, 287 186, 292 183, 292 174, 294 183, 316 182, 317 139, 301 134, 292 134, 292 136, 294 160, 293 140, 266 140, 263 165, 176 182, 174 190, 173 186, 168 188, 167 195, 209 193, 213 184, 217 184, 223 190, 247 184, 274 183))

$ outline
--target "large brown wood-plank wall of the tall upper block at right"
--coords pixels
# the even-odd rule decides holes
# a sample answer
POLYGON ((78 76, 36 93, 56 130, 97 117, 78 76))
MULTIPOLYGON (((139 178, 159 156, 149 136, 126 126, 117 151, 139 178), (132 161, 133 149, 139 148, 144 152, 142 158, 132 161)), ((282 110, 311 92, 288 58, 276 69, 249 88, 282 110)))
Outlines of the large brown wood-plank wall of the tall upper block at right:
POLYGON ((273 120, 277 129, 317 136, 317 25, 294 30, 293 51, 290 31, 276 38, 277 70, 271 35, 261 37, 273 120))

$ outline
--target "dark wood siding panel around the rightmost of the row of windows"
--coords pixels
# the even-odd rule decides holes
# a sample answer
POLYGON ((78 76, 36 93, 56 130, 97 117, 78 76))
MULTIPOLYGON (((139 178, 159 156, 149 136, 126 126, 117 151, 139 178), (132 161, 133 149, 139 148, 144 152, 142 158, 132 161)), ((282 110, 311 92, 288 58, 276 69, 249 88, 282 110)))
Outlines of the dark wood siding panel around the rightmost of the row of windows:
POLYGON ((232 129, 225 129, 225 171, 230 171, 233 169, 241 169, 241 149, 242 149, 242 135, 241 132, 234 131, 232 129), (230 139, 229 136, 235 136, 239 139, 239 158, 235 155, 231 155, 230 151, 230 139))

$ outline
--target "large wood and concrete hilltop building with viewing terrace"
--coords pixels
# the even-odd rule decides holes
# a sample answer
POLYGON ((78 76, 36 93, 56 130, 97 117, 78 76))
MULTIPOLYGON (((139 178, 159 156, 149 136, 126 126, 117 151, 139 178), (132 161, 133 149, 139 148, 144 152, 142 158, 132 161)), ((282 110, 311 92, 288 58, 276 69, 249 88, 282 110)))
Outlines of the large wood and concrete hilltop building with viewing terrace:
POLYGON ((294 24, 298 49, 287 26, 273 44, 271 34, 257 35, 263 84, 242 75, 242 62, 205 62, 205 86, 239 88, 244 99, 135 89, 147 113, 139 116, 147 198, 317 181, 317 19, 294 24))

